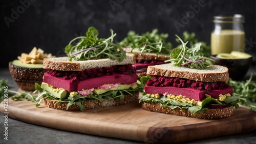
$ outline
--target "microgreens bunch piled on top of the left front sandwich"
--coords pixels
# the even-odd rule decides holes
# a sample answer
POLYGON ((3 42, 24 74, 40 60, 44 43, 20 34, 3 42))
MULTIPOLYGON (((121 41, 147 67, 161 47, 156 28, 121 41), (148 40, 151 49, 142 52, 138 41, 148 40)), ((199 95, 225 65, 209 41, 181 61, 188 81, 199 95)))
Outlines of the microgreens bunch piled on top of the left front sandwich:
POLYGON ((86 36, 76 37, 65 47, 65 53, 70 57, 70 61, 85 61, 91 59, 112 59, 118 62, 124 60, 126 54, 121 47, 113 43, 113 30, 107 39, 99 39, 98 31, 95 27, 88 28, 86 36), (75 43, 73 45, 73 43, 75 43))

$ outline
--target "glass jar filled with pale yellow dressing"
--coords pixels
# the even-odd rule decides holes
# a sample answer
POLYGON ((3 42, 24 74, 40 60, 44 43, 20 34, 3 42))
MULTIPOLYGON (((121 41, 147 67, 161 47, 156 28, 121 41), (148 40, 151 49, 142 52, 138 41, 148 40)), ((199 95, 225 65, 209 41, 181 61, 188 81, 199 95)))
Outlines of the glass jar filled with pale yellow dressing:
POLYGON ((240 14, 215 16, 214 23, 211 32, 211 54, 244 51, 244 16, 240 14))

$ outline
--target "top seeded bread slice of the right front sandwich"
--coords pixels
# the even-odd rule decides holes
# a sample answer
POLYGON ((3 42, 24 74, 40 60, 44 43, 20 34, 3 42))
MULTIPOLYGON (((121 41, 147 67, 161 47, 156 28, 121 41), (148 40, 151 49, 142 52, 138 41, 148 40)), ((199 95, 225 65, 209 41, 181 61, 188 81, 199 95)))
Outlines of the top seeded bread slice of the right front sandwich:
POLYGON ((205 69, 192 69, 186 67, 176 67, 172 64, 162 64, 147 67, 147 75, 160 75, 166 77, 179 77, 196 81, 228 81, 228 68, 211 65, 205 69))

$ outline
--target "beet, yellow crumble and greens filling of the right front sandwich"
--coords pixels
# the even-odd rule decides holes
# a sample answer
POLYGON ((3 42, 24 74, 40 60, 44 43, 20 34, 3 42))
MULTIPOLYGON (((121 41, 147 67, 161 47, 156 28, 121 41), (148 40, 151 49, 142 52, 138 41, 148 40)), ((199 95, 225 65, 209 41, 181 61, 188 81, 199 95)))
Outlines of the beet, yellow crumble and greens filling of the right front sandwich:
POLYGON ((226 82, 202 82, 177 77, 147 75, 144 95, 139 102, 160 103, 170 109, 187 109, 191 114, 204 113, 211 108, 238 107, 238 97, 226 82))

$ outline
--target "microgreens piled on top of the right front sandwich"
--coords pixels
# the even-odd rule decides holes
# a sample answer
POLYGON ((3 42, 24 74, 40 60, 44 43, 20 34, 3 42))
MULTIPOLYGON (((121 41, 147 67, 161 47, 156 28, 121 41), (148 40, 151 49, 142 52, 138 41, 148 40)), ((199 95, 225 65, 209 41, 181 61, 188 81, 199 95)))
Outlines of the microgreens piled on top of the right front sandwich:
POLYGON ((179 36, 176 35, 179 41, 182 43, 182 47, 176 47, 170 52, 170 60, 166 60, 165 62, 172 62, 175 66, 178 67, 189 67, 202 69, 206 68, 209 65, 212 65, 215 61, 210 59, 209 57, 205 57, 203 53, 200 51, 200 44, 188 48, 186 43, 184 43, 179 36))

